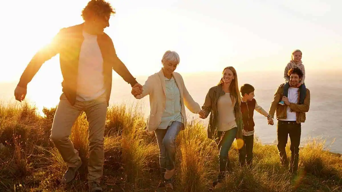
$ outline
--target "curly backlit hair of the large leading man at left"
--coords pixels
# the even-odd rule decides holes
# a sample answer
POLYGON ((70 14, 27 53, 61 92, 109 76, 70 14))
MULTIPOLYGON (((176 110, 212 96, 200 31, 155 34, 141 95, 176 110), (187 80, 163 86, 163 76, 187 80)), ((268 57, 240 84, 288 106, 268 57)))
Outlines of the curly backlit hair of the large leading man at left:
POLYGON ((115 14, 115 9, 104 0, 91 0, 82 10, 82 17, 85 21, 94 15, 98 17, 105 17, 111 14, 115 14))

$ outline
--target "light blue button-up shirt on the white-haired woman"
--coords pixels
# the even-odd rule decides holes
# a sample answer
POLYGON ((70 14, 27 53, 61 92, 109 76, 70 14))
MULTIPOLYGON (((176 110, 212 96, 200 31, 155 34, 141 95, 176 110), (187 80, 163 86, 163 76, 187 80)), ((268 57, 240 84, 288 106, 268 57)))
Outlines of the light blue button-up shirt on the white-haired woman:
POLYGON ((179 121, 183 123, 181 114, 181 94, 179 92, 179 88, 177 87, 176 81, 173 77, 171 79, 164 77, 164 81, 166 103, 158 129, 167 129, 173 121, 179 121))

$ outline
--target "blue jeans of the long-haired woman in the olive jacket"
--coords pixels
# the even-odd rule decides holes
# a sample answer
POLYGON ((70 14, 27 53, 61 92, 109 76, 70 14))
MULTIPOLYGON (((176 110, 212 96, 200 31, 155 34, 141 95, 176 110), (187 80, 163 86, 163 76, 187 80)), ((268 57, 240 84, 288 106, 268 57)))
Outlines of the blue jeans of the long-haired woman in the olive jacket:
POLYGON ((228 152, 236 137, 237 127, 229 129, 228 131, 218 131, 218 137, 221 138, 218 143, 219 148, 219 176, 218 180, 222 181, 225 176, 226 167, 228 163, 228 152))

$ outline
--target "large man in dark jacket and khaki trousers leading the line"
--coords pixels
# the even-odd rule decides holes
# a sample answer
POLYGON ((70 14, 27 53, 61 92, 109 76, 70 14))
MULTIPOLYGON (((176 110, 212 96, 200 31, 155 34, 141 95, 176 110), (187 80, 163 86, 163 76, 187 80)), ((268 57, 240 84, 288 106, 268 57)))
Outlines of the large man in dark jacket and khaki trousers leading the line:
POLYGON ((133 89, 142 86, 116 55, 110 37, 104 33, 115 10, 104 0, 91 0, 82 11, 84 23, 61 29, 52 42, 38 51, 24 70, 14 95, 22 101, 27 84, 42 64, 60 55, 63 76, 62 95, 58 104, 51 139, 68 164, 62 183, 72 181, 82 165, 78 151, 69 139, 71 127, 84 111, 89 123, 88 184, 90 191, 102 191, 100 179, 104 163, 104 129, 114 69, 133 89))

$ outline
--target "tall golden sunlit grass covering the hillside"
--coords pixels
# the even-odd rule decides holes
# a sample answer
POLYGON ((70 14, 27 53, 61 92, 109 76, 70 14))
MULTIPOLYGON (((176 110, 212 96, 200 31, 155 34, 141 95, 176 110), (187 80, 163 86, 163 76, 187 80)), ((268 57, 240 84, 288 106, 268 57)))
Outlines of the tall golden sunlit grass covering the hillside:
MULTIPOLYGON (((136 106, 108 108, 105 130, 105 191, 155 191, 159 183, 158 146, 145 131, 136 106)), ((87 191, 88 122, 81 114, 70 135, 83 161, 76 179, 61 184, 66 164, 49 135, 55 108, 37 110, 27 103, 0 106, 0 191, 87 191)), ((234 142, 229 151, 233 171, 222 191, 342 191, 342 156, 327 151, 325 140, 302 141, 299 174, 281 167, 274 145, 255 139, 253 167, 238 166, 234 142)), ((289 145, 289 142, 288 142, 289 145)), ((289 146, 287 152, 290 154, 289 146)), ((177 138, 174 191, 208 191, 218 174, 218 149, 205 127, 188 120, 177 138)))

